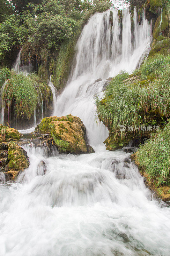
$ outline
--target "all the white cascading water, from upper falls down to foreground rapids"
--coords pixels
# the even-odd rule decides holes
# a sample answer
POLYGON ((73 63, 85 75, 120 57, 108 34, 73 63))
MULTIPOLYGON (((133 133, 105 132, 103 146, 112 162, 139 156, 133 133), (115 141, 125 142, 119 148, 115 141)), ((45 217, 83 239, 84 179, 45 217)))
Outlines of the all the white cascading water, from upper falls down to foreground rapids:
POLYGON ((0 255, 170 255, 170 208, 145 187, 130 154, 100 148, 107 130, 95 120, 94 95, 108 83, 95 80, 131 72, 149 48, 150 25, 135 12, 132 34, 127 10, 127 30, 116 11, 95 14, 83 29, 55 114, 79 116, 96 153, 49 157, 45 147, 24 146, 29 168, 0 186, 0 255))

